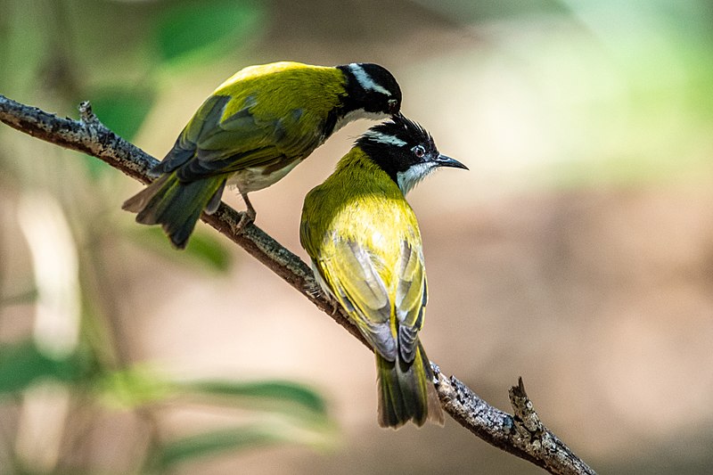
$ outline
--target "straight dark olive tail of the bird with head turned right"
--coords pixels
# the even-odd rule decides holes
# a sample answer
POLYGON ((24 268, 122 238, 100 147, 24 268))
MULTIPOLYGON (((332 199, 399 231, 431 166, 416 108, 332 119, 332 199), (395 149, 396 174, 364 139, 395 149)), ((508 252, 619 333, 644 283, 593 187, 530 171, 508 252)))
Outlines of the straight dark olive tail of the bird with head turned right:
POLYGON ((417 426, 424 422, 443 425, 443 411, 433 386, 430 362, 421 342, 418 343, 414 361, 406 363, 397 353, 390 362, 376 353, 379 386, 379 425, 394 429, 413 421, 417 426))

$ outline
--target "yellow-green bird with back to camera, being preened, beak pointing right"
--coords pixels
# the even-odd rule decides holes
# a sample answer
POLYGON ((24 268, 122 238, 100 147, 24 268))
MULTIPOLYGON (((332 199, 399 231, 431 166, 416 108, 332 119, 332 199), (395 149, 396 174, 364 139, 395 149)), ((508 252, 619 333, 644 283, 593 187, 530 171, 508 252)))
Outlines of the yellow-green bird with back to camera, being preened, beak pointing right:
POLYGON ((374 349, 382 427, 443 423, 418 337, 428 291, 421 233, 405 198, 439 167, 466 168, 399 114, 359 137, 302 209, 300 242, 317 282, 374 349))

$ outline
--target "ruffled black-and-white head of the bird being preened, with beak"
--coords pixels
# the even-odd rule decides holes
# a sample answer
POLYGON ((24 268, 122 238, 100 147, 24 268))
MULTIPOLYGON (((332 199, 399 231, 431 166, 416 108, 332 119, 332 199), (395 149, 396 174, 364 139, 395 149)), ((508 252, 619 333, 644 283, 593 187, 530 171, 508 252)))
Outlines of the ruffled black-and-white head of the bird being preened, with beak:
POLYGON ((371 127, 356 140, 356 145, 404 194, 436 168, 468 169, 460 161, 441 155, 426 129, 400 113, 371 127))

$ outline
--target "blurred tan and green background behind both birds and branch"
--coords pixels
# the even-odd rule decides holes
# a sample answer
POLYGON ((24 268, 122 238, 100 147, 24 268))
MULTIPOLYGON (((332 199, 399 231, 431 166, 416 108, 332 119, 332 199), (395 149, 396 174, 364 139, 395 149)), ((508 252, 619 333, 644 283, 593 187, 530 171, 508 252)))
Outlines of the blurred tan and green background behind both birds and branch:
MULTIPOLYGON (((509 410, 524 378, 602 473, 713 471, 713 5, 706 0, 0 0, 0 94, 161 158, 244 66, 381 63, 445 170, 410 195, 422 341, 509 410)), ((250 195, 302 258, 302 197, 369 123, 250 195)), ((373 356, 141 185, 0 127, 0 472, 538 473, 451 420, 381 430, 373 356)), ((226 193, 225 201, 243 209, 226 193)))

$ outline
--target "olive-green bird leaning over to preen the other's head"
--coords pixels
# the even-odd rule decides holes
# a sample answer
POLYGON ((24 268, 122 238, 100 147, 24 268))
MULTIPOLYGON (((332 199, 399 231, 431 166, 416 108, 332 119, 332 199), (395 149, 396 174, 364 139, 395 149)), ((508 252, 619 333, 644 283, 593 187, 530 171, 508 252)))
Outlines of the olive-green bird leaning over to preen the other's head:
POLYGON ((238 71, 206 99, 152 169, 158 179, 123 209, 144 225, 160 224, 182 249, 201 211, 220 205, 234 184, 247 211, 248 193, 274 184, 351 120, 385 119, 401 108, 401 90, 377 64, 336 67, 275 62, 238 71))

